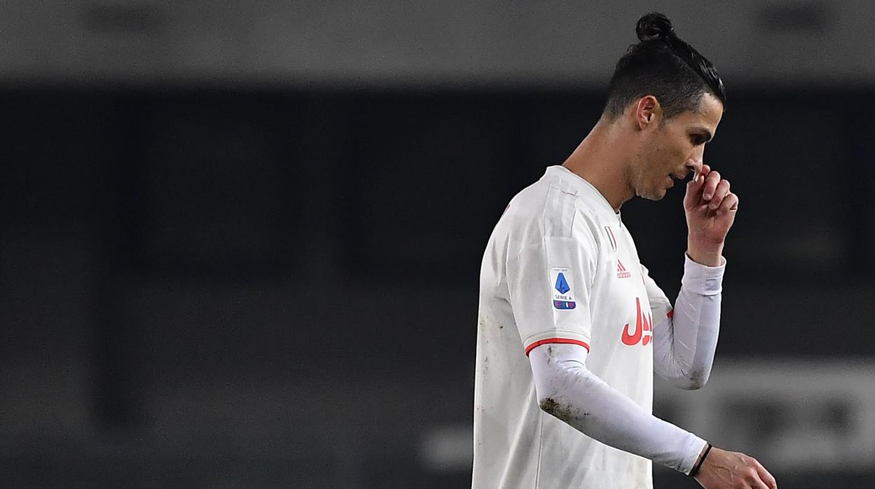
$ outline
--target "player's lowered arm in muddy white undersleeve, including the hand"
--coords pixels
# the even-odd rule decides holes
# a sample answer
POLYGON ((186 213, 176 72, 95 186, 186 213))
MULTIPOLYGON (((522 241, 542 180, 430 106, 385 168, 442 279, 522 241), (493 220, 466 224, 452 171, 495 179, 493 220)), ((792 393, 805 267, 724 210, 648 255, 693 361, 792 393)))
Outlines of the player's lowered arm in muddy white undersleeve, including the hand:
MULTIPOLYGON (((585 366, 584 346, 536 346, 528 358, 541 409, 585 435, 689 474, 705 442, 651 415, 608 386, 585 366)), ((759 462, 741 453, 714 448, 701 464, 697 481, 707 489, 776 489, 759 462)))

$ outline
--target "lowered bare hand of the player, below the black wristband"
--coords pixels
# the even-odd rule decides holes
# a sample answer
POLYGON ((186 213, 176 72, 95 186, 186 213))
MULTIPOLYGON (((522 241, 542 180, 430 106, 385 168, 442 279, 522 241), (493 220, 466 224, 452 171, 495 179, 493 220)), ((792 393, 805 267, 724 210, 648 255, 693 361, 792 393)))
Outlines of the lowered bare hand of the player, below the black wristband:
POLYGON ((778 489, 772 474, 753 457, 712 447, 696 477, 705 489, 778 489))

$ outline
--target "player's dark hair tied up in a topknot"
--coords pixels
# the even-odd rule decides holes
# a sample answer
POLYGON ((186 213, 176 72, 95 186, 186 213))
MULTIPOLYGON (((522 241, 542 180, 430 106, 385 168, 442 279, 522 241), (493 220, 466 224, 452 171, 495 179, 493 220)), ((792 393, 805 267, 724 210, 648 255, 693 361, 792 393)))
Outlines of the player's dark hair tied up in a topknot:
POLYGON ((723 80, 711 61, 677 37, 669 17, 651 12, 638 19, 641 40, 617 61, 604 114, 621 115, 645 95, 654 95, 667 119, 698 107, 706 92, 726 105, 723 80))

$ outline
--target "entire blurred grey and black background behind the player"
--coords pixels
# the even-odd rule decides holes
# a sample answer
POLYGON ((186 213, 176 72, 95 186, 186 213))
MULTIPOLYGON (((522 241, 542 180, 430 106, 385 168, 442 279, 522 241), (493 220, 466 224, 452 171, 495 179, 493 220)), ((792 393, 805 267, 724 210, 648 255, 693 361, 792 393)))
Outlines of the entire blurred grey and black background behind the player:
MULTIPOLYGON (((470 487, 486 239, 650 10, 741 199, 711 382, 655 411, 875 486, 875 3, 802 0, 6 0, 0 486, 470 487)), ((682 188, 623 207, 670 297, 682 188)))

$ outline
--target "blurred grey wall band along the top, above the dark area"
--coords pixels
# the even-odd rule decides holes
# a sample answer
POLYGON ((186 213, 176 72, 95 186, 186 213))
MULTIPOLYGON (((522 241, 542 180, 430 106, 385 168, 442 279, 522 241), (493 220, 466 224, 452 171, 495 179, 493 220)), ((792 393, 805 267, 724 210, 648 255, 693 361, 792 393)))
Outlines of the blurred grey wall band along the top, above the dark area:
POLYGON ((875 80, 875 4, 54 2, 4 4, 0 80, 598 86, 663 10, 725 80, 875 80))

